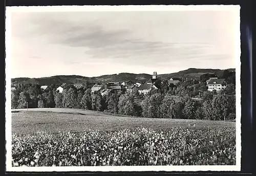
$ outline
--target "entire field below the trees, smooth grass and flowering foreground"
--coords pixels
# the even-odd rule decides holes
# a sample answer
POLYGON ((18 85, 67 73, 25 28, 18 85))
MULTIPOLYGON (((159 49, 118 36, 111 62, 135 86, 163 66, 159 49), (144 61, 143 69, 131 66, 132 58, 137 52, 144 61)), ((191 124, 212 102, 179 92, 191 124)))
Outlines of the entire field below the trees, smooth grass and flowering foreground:
POLYGON ((236 164, 233 122, 33 111, 12 113, 13 166, 236 164))

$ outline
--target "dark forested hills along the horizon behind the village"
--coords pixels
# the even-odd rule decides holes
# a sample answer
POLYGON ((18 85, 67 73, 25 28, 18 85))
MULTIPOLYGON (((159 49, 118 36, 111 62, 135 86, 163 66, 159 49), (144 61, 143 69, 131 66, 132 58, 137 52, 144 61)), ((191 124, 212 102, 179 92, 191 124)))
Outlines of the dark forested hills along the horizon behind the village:
MULTIPOLYGON (((236 71, 235 69, 227 69, 229 72, 236 71)), ((187 70, 183 70, 177 73, 170 74, 160 74, 158 75, 160 79, 170 79, 171 77, 179 77, 179 78, 199 78, 201 75, 209 73, 215 74, 218 77, 222 77, 225 70, 219 69, 195 69, 190 68, 187 70)), ((170 71, 171 72, 171 71, 170 71)), ((12 84, 40 84, 40 85, 50 85, 50 84, 61 84, 61 83, 84 83, 84 81, 92 81, 92 82, 122 82, 132 80, 136 81, 146 81, 152 78, 150 74, 133 74, 133 73, 120 73, 113 75, 102 75, 98 77, 84 77, 78 75, 58 75, 51 77, 43 77, 43 78, 12 78, 12 84)))

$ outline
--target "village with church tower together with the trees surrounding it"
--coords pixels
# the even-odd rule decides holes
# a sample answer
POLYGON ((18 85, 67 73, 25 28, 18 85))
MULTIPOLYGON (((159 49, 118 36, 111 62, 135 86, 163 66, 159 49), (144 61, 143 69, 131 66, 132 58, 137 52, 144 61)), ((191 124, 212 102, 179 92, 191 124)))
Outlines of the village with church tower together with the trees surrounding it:
MULTIPOLYGON (((204 74, 199 79, 171 77, 166 80, 153 72, 152 78, 143 82, 19 84, 12 87, 12 108, 77 108, 138 117, 215 120, 216 117, 207 111, 219 111, 219 107, 211 107, 217 101, 216 105, 227 106, 228 119, 233 119, 235 86, 230 82, 233 77, 227 77, 227 83, 225 76, 210 76, 204 74), (167 108, 161 110, 162 106, 167 108), (151 111, 157 113, 148 113, 151 111), (183 111, 189 113, 184 114, 183 111)), ((220 114, 217 119, 223 118, 220 114)))

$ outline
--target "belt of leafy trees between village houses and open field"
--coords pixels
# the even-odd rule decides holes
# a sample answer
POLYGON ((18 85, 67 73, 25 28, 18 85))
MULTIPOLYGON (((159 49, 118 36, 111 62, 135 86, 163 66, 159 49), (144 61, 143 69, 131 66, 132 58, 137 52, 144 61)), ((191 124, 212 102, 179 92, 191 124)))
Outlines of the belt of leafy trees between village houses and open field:
POLYGON ((78 108, 99 112, 109 112, 128 116, 174 119, 233 120, 236 118, 236 99, 231 94, 234 84, 219 92, 205 91, 198 95, 205 84, 184 81, 178 85, 158 82, 161 88, 151 90, 146 95, 138 92, 110 92, 101 96, 99 92, 91 94, 92 83, 86 83, 81 89, 73 85, 58 93, 58 85, 50 85, 47 91, 38 84, 19 84, 12 91, 12 108, 78 108), (199 100, 193 97, 200 98, 199 100), (140 99, 140 105, 135 103, 140 99))

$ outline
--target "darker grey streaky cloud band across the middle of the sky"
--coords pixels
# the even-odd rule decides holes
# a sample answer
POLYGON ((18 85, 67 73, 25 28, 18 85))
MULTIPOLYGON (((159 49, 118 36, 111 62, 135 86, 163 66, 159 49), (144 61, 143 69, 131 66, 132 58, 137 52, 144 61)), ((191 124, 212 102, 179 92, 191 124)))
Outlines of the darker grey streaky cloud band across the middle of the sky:
MULTIPOLYGON (((47 21, 47 24, 45 27, 49 27, 53 22, 47 21)), ((62 30, 50 28, 50 35, 45 35, 49 43, 84 47, 84 53, 91 56, 91 59, 104 58, 123 64, 149 65, 152 64, 152 60, 160 57, 162 63, 176 57, 187 60, 205 54, 204 49, 212 47, 207 43, 150 41, 150 39, 133 37, 131 30, 106 31, 104 27, 91 23, 84 26, 69 26, 59 21, 57 26, 62 30)), ((160 62, 155 64, 158 63, 160 62)))

